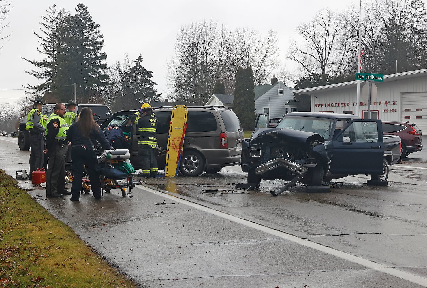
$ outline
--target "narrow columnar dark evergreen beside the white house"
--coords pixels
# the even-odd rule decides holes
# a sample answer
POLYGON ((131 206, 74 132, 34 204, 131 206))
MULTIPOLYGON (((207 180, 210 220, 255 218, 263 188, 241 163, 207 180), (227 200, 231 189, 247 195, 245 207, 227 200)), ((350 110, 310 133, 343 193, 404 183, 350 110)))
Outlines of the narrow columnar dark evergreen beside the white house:
POLYGON ((255 93, 251 67, 237 68, 233 107, 243 129, 252 131, 255 122, 255 93))

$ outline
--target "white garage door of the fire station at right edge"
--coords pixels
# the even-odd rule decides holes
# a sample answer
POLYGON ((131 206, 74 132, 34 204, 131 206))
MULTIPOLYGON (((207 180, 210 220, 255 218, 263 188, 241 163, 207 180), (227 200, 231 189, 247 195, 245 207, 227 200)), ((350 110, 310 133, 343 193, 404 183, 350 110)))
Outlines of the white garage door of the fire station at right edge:
POLYGON ((402 121, 416 123, 427 136, 427 92, 402 93, 402 121))

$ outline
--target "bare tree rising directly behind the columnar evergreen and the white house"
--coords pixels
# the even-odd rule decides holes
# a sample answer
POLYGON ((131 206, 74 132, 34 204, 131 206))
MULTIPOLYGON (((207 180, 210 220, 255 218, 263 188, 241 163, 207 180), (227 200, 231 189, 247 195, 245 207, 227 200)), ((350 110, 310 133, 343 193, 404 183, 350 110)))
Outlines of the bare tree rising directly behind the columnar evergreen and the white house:
POLYGON ((245 27, 237 28, 233 36, 235 45, 230 47, 230 54, 234 71, 238 67, 252 67, 255 86, 265 84, 280 62, 277 33, 270 30, 262 37, 257 29, 245 27))

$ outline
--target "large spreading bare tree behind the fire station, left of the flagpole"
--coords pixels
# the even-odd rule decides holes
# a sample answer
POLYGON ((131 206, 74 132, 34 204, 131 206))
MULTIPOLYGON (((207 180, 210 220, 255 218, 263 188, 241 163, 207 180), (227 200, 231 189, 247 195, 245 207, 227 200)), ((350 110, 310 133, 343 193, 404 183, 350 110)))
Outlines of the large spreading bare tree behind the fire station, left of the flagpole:
POLYGON ((296 29, 304 44, 300 46, 292 40, 288 58, 300 65, 303 75, 321 75, 324 81, 328 76, 336 77, 342 68, 342 55, 348 49, 338 45, 341 30, 341 21, 331 10, 319 11, 296 29))

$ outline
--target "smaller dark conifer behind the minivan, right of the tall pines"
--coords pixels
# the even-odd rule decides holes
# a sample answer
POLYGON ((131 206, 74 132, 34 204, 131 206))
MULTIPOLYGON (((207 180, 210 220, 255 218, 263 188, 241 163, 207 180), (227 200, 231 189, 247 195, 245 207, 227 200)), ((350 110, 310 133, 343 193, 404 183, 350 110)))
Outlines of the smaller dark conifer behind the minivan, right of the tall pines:
POLYGON ((161 95, 154 89, 157 83, 151 80, 153 72, 141 65, 142 60, 140 54, 134 62, 135 65, 122 77, 123 97, 128 100, 129 109, 134 109, 144 102, 156 101, 161 95))

